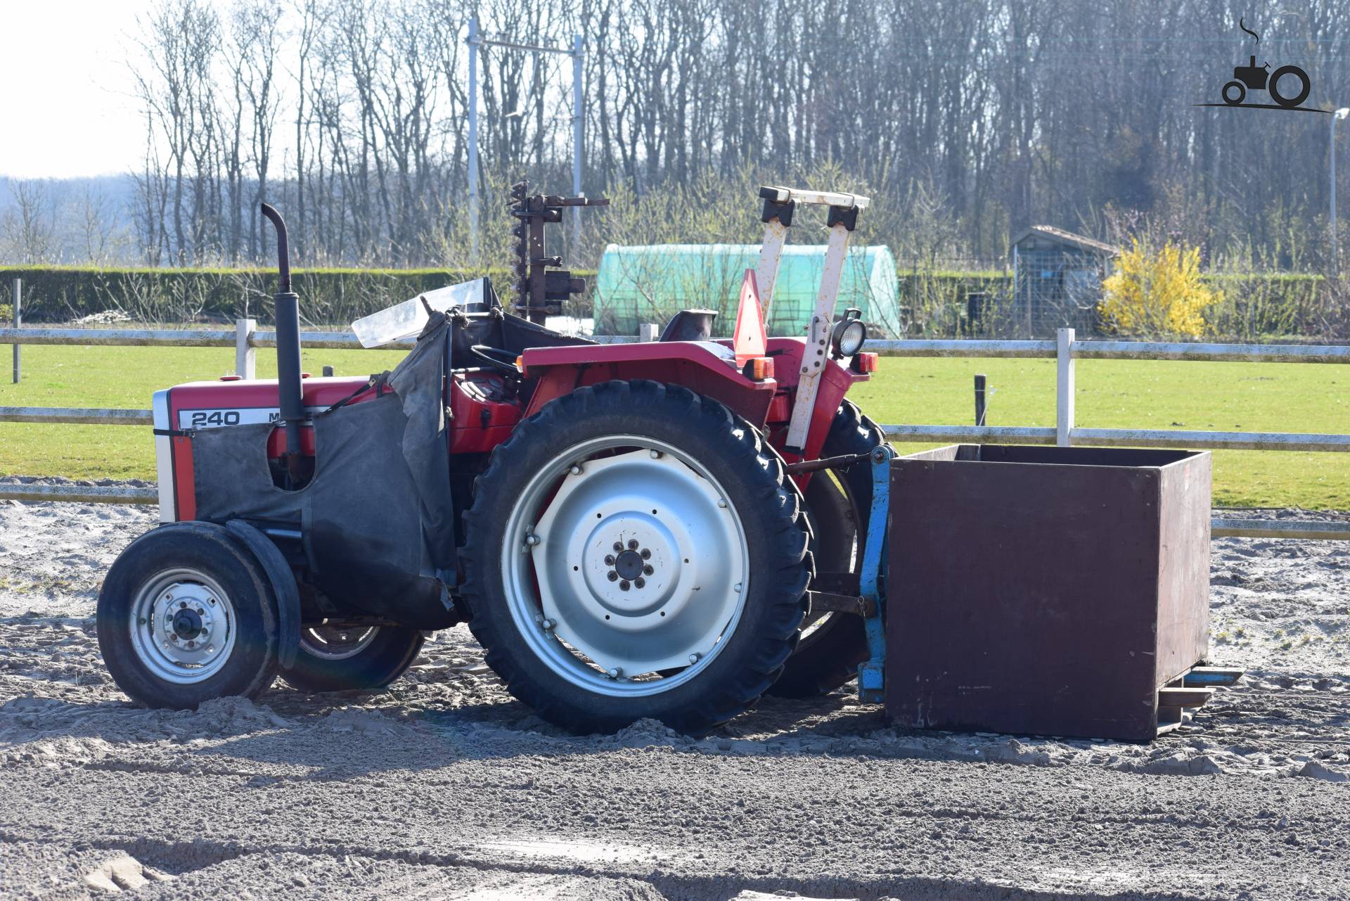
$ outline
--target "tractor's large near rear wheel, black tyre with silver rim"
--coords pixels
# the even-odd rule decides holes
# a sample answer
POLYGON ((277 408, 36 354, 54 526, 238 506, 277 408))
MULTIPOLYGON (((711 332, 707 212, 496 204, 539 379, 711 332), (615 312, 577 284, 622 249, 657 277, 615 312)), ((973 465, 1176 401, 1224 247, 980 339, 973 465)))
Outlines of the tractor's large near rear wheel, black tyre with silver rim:
POLYGON ((706 732, 795 647, 796 496, 751 424, 688 389, 614 381, 551 401, 493 451, 466 524, 468 627, 510 693, 563 728, 706 732))

